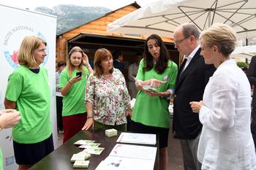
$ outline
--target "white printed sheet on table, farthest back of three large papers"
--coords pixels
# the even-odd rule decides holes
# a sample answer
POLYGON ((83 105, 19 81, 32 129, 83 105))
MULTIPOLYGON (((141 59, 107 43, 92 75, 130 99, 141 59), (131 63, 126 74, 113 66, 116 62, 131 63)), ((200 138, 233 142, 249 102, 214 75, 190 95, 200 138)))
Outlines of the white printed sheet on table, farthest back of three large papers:
POLYGON ((122 132, 116 142, 132 144, 157 144, 157 136, 156 134, 122 132))

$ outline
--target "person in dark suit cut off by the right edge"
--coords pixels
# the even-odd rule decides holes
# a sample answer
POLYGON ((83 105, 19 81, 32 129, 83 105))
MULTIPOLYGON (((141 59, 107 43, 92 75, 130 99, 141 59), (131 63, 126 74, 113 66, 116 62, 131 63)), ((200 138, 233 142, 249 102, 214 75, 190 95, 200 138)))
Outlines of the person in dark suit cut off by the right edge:
POLYGON ((254 90, 252 95, 251 131, 252 131, 252 138, 253 138, 253 141, 255 142, 255 147, 256 147, 256 55, 252 57, 251 63, 249 64, 247 77, 251 85, 254 85, 254 90))

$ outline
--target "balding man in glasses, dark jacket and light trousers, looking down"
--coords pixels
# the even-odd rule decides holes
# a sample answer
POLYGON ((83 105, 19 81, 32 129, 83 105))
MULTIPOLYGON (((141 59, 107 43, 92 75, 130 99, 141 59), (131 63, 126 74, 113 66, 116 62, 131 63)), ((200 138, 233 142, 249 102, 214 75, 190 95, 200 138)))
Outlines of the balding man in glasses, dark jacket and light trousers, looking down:
POLYGON ((200 56, 199 36, 197 27, 191 23, 178 26, 173 34, 175 47, 185 58, 178 70, 173 101, 173 131, 176 138, 181 139, 184 170, 201 169, 201 163, 197 161, 197 146, 202 124, 189 102, 203 99, 208 79, 215 71, 214 66, 206 65, 200 56))

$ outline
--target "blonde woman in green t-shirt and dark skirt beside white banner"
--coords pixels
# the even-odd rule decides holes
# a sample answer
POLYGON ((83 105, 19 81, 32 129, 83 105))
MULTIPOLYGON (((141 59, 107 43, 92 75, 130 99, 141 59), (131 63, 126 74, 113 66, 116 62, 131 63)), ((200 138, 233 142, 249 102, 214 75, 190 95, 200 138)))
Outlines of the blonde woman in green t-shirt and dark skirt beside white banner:
POLYGON ((19 169, 29 169, 54 150, 48 71, 41 65, 47 55, 46 45, 38 36, 26 36, 18 53, 20 66, 8 78, 4 106, 17 109, 21 116, 12 128, 19 169))

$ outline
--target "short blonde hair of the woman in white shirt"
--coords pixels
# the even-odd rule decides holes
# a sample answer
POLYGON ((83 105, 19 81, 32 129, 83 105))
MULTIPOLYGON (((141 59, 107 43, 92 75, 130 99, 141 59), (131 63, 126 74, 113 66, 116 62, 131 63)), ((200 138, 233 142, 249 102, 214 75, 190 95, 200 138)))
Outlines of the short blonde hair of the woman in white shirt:
POLYGON ((228 57, 236 48, 236 31, 223 23, 216 23, 200 34, 208 47, 217 45, 219 53, 228 57))

